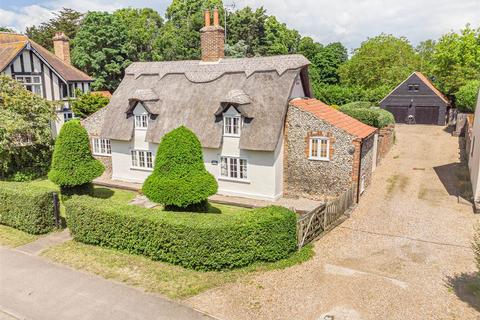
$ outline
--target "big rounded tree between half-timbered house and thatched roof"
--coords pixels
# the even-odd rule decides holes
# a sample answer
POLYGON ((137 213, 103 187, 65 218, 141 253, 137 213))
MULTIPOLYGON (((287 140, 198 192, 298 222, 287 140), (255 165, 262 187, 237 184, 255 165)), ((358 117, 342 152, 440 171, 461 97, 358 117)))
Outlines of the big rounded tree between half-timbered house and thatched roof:
POLYGON ((95 90, 115 91, 131 63, 127 27, 108 12, 88 12, 73 40, 73 64, 95 78, 95 90))

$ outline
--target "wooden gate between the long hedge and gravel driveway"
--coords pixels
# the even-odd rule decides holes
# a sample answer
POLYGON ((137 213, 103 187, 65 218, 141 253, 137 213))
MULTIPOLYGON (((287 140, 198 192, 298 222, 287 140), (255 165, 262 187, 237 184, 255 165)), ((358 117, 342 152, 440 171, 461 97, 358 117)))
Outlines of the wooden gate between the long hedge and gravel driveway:
POLYGON ((318 206, 297 220, 299 249, 335 226, 337 220, 355 203, 355 188, 353 184, 340 197, 318 206))

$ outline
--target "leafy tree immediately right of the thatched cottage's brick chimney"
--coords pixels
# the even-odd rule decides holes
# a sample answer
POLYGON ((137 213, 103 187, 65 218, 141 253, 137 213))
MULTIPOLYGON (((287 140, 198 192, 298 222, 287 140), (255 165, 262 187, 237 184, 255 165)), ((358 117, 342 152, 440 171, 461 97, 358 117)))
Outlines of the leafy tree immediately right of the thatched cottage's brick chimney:
POLYGON ((252 10, 245 7, 227 14, 227 44, 229 47, 244 41, 247 46, 246 56, 259 55, 264 45, 265 21, 268 16, 263 7, 252 10))

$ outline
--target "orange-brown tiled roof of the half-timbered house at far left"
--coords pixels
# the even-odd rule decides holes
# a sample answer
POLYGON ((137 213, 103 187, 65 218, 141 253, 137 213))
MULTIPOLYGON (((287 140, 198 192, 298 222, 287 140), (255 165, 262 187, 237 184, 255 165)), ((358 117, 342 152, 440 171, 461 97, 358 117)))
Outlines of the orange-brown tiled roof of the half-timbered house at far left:
POLYGON ((28 44, 65 81, 92 81, 87 74, 65 63, 27 36, 8 32, 0 32, 0 71, 8 67, 28 44))

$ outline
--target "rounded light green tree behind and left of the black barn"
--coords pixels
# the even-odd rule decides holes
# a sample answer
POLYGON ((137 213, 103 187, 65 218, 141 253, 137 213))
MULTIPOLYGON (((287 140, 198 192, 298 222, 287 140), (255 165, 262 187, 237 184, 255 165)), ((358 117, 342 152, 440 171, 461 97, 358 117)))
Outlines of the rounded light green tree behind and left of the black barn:
POLYGON ((419 66, 419 57, 406 38, 381 34, 363 42, 340 66, 342 83, 375 88, 395 87, 419 66))

